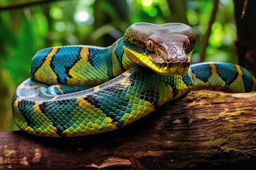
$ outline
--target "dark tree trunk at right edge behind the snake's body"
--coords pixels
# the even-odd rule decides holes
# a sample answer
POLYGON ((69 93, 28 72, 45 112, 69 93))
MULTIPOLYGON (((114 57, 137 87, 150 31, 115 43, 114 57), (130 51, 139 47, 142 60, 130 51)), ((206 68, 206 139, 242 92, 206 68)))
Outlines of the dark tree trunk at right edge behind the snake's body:
POLYGON ((239 65, 256 76, 256 1, 234 0, 239 65))

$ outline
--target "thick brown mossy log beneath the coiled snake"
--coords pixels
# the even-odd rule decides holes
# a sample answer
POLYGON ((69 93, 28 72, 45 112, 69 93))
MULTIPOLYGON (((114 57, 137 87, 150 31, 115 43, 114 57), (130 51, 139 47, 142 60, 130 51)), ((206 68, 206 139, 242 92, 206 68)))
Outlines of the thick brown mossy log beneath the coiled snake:
POLYGON ((192 91, 133 124, 98 135, 0 132, 0 169, 255 169, 255 101, 255 92, 192 91))

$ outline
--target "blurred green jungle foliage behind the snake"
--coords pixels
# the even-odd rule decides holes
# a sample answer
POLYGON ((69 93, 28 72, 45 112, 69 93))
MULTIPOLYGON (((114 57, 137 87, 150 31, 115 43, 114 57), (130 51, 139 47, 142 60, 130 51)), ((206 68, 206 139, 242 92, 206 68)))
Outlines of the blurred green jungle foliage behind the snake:
POLYGON ((182 22, 197 34, 192 63, 237 64, 234 17, 232 0, 1 0, 0 131, 18 130, 11 97, 40 49, 109 46, 135 22, 182 22))

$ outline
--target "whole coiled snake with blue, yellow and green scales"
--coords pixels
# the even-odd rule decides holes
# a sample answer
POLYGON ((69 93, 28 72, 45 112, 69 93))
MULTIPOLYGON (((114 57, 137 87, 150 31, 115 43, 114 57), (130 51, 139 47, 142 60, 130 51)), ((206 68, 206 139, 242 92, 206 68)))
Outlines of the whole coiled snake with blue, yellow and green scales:
POLYGON ((186 24, 139 22, 108 47, 42 49, 32 58, 31 78, 13 94, 13 120, 37 136, 94 135, 131 124, 192 90, 255 90, 254 76, 242 66, 190 64, 195 42, 186 24))

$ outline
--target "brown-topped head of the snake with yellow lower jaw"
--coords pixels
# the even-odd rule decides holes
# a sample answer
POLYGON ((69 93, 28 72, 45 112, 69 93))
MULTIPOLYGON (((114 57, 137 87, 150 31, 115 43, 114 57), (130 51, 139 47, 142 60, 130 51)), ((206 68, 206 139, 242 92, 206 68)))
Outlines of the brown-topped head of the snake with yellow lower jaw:
POLYGON ((124 50, 133 62, 161 75, 188 72, 195 31, 182 23, 132 24, 124 35, 124 50))

